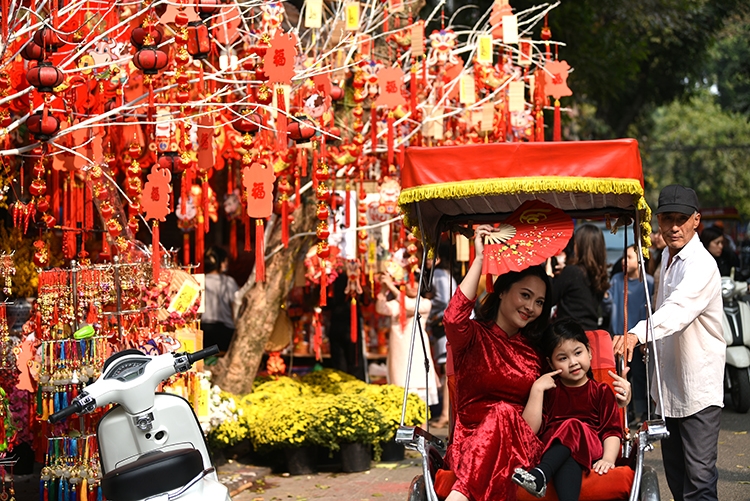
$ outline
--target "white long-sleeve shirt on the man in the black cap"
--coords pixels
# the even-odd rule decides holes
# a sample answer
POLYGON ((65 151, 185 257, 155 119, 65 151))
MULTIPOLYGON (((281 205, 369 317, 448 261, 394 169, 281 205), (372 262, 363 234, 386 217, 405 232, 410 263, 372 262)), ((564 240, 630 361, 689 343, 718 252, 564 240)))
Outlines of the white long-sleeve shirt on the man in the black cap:
MULTIPOLYGON (((658 405, 655 377, 651 380, 651 396, 657 402, 657 413, 681 418, 712 405, 724 405, 724 310, 716 260, 697 234, 669 261, 665 254, 652 317, 663 410, 658 405)), ((646 321, 630 332, 641 343, 646 342, 646 321)))

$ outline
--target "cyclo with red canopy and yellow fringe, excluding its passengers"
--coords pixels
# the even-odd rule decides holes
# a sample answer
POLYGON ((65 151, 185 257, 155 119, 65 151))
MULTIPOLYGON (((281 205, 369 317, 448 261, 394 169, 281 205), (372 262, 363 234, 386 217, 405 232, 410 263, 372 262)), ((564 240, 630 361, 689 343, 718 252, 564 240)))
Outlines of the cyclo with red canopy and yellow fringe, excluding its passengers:
MULTIPOLYGON (((605 218, 615 227, 624 226, 624 248, 628 244, 628 225, 632 222, 632 242, 638 251, 641 276, 646 274, 642 257, 648 248, 651 210, 644 198, 641 159, 633 139, 407 148, 401 180, 399 205, 405 224, 418 230, 422 241, 422 277, 425 277, 428 249, 437 248, 443 232, 471 237, 473 225, 502 222, 530 200, 546 202, 573 219, 605 218)), ((420 288, 429 284, 431 277, 426 278, 420 288)), ((650 305, 648 309, 651 310, 650 305)), ((419 310, 418 305, 415 310, 419 310)), ((421 339, 416 336, 419 322, 413 325, 409 360, 415 340, 421 339)), ((658 367, 658 354, 651 343, 646 345, 649 348, 646 356, 658 367)), ((598 366, 592 364, 597 376, 615 366, 622 369, 622 361, 615 362, 611 346, 605 332, 592 343, 594 359, 599 360, 598 366)), ((409 372, 410 366, 407 386, 409 372)), ((655 377, 659 377, 658 371, 655 377)), ((460 391, 450 384, 449 388, 460 391)), ((451 401, 455 402, 453 397, 451 401)), ((661 401, 661 394, 658 398, 661 401)), ((605 477, 584 476, 581 499, 659 500, 658 478, 652 468, 644 465, 644 455, 668 432, 663 420, 652 419, 650 410, 647 418, 631 433, 623 413, 625 441, 618 462, 623 466, 608 473, 604 482, 597 480, 605 477)), ((429 425, 427 430, 403 426, 402 415, 396 441, 422 456, 422 473, 412 481, 408 499, 444 499, 452 480, 451 472, 444 467, 443 440, 429 433, 429 425)), ((551 495, 548 493, 545 499, 556 499, 551 495)), ((519 489, 518 499, 534 498, 519 489)))

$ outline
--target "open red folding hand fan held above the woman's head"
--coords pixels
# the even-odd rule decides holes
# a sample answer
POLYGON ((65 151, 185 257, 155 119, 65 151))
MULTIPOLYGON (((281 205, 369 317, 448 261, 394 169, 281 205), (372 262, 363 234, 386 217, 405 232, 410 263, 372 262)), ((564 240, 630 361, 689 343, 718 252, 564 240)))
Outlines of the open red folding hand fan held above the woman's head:
POLYGON ((542 264, 559 254, 571 235, 573 220, 565 212, 539 200, 524 202, 484 239, 487 291, 492 291, 493 275, 542 264))

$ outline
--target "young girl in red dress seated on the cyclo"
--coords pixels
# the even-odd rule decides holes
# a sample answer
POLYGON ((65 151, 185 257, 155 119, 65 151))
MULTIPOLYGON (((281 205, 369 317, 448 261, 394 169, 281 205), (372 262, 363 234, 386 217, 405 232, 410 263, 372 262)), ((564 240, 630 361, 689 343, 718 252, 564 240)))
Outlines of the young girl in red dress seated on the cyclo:
POLYGON ((589 340, 575 321, 550 325, 542 353, 553 372, 532 386, 523 418, 539 432, 544 453, 536 467, 516 468, 512 479, 536 497, 554 480, 560 501, 577 501, 584 471, 604 475, 615 467, 622 440, 617 401, 606 383, 593 380, 589 340))

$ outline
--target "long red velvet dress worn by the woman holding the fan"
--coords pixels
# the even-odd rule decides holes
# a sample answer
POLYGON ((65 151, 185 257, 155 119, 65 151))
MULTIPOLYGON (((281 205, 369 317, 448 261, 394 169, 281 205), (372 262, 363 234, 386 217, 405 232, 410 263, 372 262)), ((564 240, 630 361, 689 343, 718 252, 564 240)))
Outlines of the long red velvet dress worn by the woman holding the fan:
POLYGON ((457 387, 455 428, 446 460, 453 490, 472 501, 515 500, 517 467, 539 461, 542 442, 521 417, 539 377, 538 353, 521 334, 470 320, 474 301, 456 290, 443 316, 457 387))

